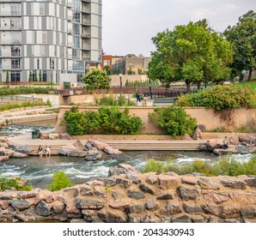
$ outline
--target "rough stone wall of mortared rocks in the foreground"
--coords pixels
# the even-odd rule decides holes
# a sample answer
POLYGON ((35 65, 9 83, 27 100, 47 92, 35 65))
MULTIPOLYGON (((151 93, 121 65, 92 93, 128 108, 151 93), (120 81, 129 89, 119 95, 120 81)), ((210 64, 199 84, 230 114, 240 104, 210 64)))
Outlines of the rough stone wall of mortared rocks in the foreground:
POLYGON ((0 222, 256 222, 256 177, 141 174, 110 176, 51 192, 0 193, 0 222))

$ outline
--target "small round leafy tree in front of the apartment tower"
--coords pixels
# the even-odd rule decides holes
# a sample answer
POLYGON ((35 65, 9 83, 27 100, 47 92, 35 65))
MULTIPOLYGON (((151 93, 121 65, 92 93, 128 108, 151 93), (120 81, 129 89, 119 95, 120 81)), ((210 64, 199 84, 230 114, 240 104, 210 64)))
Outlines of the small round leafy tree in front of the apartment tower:
POLYGON ((110 88, 110 77, 105 70, 94 69, 82 76, 82 82, 88 93, 110 88))

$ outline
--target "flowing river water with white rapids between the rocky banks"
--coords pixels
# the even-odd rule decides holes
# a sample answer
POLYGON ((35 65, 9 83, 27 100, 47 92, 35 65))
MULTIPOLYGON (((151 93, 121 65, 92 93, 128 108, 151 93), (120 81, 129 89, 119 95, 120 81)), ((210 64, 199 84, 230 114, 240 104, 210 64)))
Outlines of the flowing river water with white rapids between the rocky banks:
MULTIPOLYGON (((0 129, 0 135, 24 134, 32 131, 32 127, 12 126, 9 129, 0 129)), ((45 129, 45 128, 44 128, 45 129)), ((239 161, 247 161, 252 154, 236 154, 234 158, 239 161)), ((0 162, 0 177, 23 177, 34 187, 46 188, 52 183, 55 171, 64 171, 70 177, 72 183, 84 183, 88 179, 107 177, 109 167, 125 163, 135 167, 137 171, 143 171, 148 159, 165 161, 173 159, 182 164, 195 159, 215 160, 215 155, 204 152, 182 151, 134 151, 125 152, 119 156, 104 156, 101 161, 85 161, 82 158, 70 158, 63 156, 28 157, 27 159, 9 159, 0 162)))

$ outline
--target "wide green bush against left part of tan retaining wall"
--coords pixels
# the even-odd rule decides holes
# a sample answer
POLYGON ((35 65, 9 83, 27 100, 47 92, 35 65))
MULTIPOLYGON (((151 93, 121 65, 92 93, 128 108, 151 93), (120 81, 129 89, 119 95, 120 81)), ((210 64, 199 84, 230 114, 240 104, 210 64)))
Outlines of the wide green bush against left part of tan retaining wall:
POLYGON ((101 107, 99 112, 79 112, 76 106, 72 107, 65 111, 61 125, 66 126, 70 135, 87 135, 94 130, 102 130, 104 134, 132 135, 143 128, 141 118, 130 116, 127 108, 121 111, 117 106, 101 107))

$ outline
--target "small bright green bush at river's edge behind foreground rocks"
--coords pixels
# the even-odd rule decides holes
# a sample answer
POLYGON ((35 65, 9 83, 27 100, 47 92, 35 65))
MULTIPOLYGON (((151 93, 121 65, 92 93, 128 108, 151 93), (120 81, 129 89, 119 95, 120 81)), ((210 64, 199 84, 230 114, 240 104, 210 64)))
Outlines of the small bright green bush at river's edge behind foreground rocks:
POLYGON ((55 171, 52 178, 52 184, 48 187, 51 191, 58 191, 72 187, 70 179, 65 175, 64 171, 55 171))

